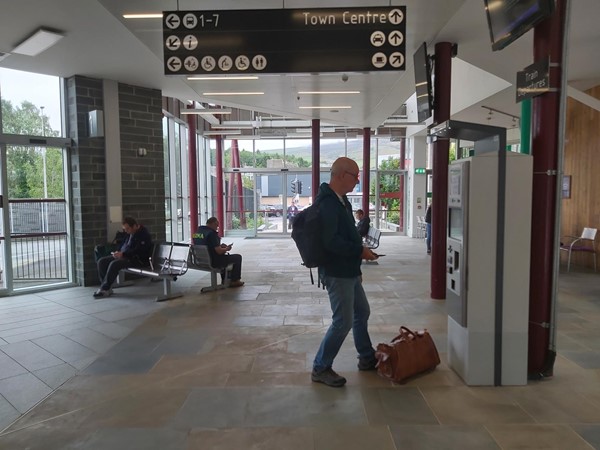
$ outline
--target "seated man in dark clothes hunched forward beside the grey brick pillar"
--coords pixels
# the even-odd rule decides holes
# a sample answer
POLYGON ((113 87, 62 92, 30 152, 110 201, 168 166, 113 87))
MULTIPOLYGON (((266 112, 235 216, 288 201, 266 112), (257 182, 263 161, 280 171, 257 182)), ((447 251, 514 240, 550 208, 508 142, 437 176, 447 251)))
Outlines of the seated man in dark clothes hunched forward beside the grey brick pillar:
POLYGON ((137 223, 133 217, 123 219, 123 231, 129 236, 121 248, 111 255, 98 260, 98 276, 100 289, 94 292, 94 298, 110 297, 110 288, 119 276, 121 269, 128 267, 145 267, 152 257, 152 237, 150 232, 137 223))

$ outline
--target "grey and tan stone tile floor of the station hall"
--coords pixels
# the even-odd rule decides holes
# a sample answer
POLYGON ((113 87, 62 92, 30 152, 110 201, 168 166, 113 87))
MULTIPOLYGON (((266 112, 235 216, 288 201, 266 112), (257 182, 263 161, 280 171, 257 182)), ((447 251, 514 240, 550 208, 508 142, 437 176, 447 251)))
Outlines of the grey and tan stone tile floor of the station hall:
POLYGON ((383 236, 381 248, 363 266, 372 340, 427 328, 435 371, 404 385, 358 372, 350 335, 334 365, 346 387, 311 383, 326 292, 291 239, 240 239, 240 289, 199 294, 208 274, 190 272, 162 304, 147 280, 103 300, 92 288, 0 299, 0 448, 600 448, 597 274, 560 276, 554 377, 468 387, 445 362, 423 241, 383 236))

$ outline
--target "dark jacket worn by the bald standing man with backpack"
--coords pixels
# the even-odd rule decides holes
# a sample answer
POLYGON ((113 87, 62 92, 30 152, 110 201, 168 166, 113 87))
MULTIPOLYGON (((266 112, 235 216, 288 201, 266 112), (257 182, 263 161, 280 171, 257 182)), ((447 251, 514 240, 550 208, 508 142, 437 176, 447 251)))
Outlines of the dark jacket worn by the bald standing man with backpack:
POLYGON ((315 202, 319 203, 323 233, 321 243, 330 255, 330 262, 319 267, 319 275, 353 278, 361 275, 362 239, 356 231, 352 206, 342 196, 344 204, 329 187, 322 183, 315 202))

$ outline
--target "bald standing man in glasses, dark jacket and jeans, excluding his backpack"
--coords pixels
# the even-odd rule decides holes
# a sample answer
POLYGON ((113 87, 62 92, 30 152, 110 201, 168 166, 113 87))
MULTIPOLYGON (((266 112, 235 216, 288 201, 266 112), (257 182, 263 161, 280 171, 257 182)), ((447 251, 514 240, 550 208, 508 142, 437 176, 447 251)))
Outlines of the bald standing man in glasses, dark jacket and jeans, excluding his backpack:
POLYGON ((352 206, 346 197, 359 182, 359 168, 350 158, 338 158, 331 166, 331 180, 319 187, 317 200, 322 222, 321 243, 330 256, 319 267, 319 277, 327 289, 332 323, 315 355, 312 381, 341 387, 346 379, 332 366, 346 336, 352 330, 358 352, 359 370, 373 370, 375 350, 367 329, 371 310, 361 283, 361 261, 378 256, 362 244, 356 230, 352 206))

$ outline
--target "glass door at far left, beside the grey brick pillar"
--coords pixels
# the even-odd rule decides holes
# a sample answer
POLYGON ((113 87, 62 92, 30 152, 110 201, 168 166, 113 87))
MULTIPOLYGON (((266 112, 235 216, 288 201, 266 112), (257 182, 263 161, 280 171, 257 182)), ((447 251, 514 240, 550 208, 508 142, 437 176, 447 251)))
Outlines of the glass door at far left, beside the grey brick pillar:
MULTIPOLYGON (((5 293, 71 281, 64 147, 1 143, 1 287, 5 293)), ((48 139, 64 143, 65 139, 48 139)))

